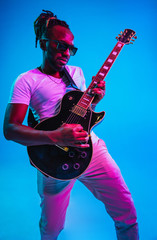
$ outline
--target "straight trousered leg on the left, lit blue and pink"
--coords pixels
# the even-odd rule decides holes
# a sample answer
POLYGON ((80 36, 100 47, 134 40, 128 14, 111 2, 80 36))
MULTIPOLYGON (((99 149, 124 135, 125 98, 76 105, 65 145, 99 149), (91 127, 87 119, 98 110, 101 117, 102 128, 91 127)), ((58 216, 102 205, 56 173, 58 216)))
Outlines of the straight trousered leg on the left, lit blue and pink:
POLYGON ((41 197, 41 240, 56 240, 64 227, 70 192, 75 180, 59 181, 38 172, 38 192, 41 197))

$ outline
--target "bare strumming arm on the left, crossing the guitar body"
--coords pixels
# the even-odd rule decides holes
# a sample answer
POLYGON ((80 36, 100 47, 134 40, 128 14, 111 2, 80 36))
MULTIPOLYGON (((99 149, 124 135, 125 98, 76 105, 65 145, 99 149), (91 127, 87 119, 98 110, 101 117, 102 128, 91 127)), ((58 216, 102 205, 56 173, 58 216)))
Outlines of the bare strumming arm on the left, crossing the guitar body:
POLYGON ((54 131, 35 130, 23 125, 28 106, 26 104, 8 104, 4 118, 4 136, 25 146, 58 144, 60 146, 88 147, 80 144, 88 140, 88 134, 79 124, 63 124, 54 131))

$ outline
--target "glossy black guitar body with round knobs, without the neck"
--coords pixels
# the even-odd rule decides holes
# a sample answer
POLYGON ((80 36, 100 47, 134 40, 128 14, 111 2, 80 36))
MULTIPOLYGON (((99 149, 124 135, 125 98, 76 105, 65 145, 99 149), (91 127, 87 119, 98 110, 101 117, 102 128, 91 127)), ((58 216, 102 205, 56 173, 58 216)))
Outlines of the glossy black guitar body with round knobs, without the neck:
MULTIPOLYGON (((105 112, 95 113, 90 108, 84 117, 72 113, 73 107, 82 97, 81 91, 70 91, 62 99, 60 112, 39 123, 35 129, 53 131, 63 123, 81 124, 90 135, 91 128, 100 122, 105 112), (67 122, 67 119, 69 121, 67 122)), ((43 174, 61 180, 80 176, 88 167, 92 157, 92 141, 88 148, 59 147, 56 145, 29 146, 27 148, 31 163, 43 174)))

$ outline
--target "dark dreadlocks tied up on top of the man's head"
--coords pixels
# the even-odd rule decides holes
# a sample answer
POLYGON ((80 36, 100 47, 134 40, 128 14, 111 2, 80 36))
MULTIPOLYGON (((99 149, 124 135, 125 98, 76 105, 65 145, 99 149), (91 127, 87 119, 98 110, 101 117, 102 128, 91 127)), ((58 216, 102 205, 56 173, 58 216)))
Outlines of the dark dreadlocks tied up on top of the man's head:
POLYGON ((65 21, 57 19, 57 16, 54 15, 51 11, 42 11, 43 12, 34 21, 34 31, 36 35, 35 47, 37 47, 37 43, 41 37, 45 35, 48 29, 52 28, 52 26, 61 25, 69 29, 69 25, 65 21))

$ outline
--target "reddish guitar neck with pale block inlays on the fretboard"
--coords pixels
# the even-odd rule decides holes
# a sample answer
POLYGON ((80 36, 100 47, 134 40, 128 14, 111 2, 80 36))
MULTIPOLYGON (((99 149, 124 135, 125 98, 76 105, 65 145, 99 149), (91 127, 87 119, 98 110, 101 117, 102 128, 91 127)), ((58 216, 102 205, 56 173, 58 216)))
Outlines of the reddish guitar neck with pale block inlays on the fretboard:
POLYGON ((87 109, 90 106, 90 104, 92 103, 93 98, 94 98, 94 96, 91 94, 92 89, 101 80, 105 79, 107 73, 109 72, 110 68, 112 67, 114 61, 116 60, 118 54, 120 53, 120 51, 122 50, 124 45, 125 44, 120 41, 117 42, 117 44, 115 45, 115 47, 109 54, 108 58, 103 63, 102 67, 100 68, 100 70, 98 71, 96 76, 93 78, 91 84, 89 85, 89 87, 87 88, 87 90, 85 91, 85 93, 83 94, 81 99, 79 100, 77 106, 84 108, 84 109, 87 109))

